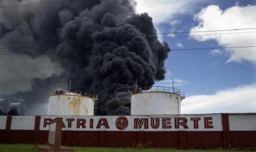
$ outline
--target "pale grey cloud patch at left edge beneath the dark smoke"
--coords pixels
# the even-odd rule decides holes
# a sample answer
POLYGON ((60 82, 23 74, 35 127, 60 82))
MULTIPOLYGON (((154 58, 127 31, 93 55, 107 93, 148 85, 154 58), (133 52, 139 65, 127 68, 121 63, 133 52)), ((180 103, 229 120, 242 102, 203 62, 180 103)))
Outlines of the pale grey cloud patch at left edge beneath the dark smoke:
POLYGON ((44 80, 52 75, 59 76, 63 71, 59 63, 48 57, 1 56, 0 92, 13 94, 30 91, 34 78, 44 80))

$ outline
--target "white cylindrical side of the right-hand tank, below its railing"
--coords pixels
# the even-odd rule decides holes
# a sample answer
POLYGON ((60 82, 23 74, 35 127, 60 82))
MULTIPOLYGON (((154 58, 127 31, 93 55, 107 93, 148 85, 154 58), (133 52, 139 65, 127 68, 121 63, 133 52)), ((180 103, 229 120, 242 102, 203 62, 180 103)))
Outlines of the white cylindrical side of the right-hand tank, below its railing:
POLYGON ((132 94, 131 115, 180 114, 180 97, 169 92, 132 94))

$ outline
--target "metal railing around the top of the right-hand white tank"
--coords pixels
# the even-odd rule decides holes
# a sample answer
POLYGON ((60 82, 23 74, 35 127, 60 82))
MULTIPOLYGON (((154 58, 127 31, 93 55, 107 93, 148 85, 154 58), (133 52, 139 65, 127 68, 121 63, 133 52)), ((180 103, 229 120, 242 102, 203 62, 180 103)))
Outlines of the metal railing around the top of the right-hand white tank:
POLYGON ((141 87, 132 90, 132 94, 140 94, 143 92, 170 92, 174 94, 180 95, 180 97, 185 98, 185 92, 180 92, 179 89, 169 87, 169 86, 148 86, 148 87, 141 87))

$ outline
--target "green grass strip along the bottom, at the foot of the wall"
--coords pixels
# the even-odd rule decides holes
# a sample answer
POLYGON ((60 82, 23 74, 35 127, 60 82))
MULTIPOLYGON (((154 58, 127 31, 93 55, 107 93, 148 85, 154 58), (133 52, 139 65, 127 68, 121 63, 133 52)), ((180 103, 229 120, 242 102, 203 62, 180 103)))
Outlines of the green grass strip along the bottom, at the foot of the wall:
MULTIPOLYGON (((171 148, 148 148, 148 149, 138 149, 138 148, 99 148, 99 147, 73 147, 75 152, 246 152, 246 150, 175 150, 171 148)), ((39 152, 35 145, 31 144, 0 144, 0 152, 39 152)), ((250 151, 250 150, 247 150, 250 151)), ((251 150, 255 151, 255 150, 251 150)), ((256 151, 255 151, 256 152, 256 151)))

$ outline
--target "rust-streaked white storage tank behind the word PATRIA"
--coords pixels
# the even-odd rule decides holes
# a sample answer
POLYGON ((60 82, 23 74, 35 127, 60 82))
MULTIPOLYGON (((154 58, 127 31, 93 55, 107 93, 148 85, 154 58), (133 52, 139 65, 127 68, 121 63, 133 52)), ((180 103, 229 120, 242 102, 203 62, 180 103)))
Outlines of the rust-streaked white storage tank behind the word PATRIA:
POLYGON ((48 115, 93 116, 97 96, 85 92, 55 91, 50 94, 48 115))

